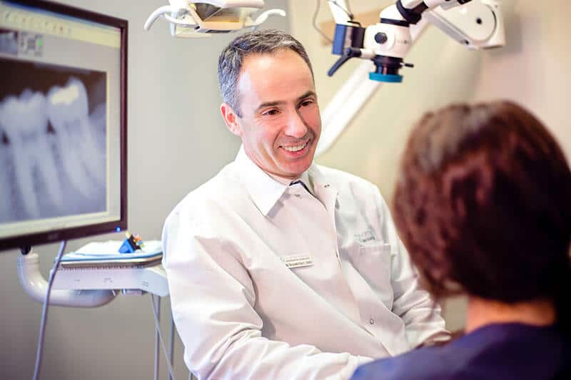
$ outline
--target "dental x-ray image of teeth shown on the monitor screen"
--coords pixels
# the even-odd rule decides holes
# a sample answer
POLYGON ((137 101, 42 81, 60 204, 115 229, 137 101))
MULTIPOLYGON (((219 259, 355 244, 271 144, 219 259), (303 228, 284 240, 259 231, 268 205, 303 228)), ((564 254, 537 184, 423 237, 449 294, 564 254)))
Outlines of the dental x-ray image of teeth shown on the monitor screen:
POLYGON ((106 211, 106 73, 0 58, 0 222, 106 211))

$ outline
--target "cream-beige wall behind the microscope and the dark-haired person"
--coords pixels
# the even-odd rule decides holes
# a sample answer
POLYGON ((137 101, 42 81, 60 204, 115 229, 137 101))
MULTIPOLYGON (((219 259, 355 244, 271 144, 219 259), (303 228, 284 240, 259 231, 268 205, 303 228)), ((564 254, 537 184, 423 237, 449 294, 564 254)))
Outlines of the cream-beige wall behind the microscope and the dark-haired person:
MULTIPOLYGON (((323 46, 311 19, 318 1, 290 1, 289 17, 294 36, 308 48, 323 110, 335 91, 358 65, 357 61, 327 76, 338 58, 323 46)), ((325 0, 317 22, 331 19, 325 0)), ((354 14, 382 9, 394 1, 349 0, 354 14)), ((532 0, 501 0, 507 45, 489 51, 468 51, 431 26, 417 41, 401 84, 385 84, 355 117, 333 148, 318 163, 367 178, 391 201, 398 177, 398 160, 411 126, 426 111, 458 101, 507 98, 529 108, 552 131, 571 158, 571 48, 567 15, 571 3, 552 0, 549 5, 532 0)), ((327 125, 324 125, 326 128, 327 125)), ((465 303, 446 305, 448 327, 463 327, 465 303)))

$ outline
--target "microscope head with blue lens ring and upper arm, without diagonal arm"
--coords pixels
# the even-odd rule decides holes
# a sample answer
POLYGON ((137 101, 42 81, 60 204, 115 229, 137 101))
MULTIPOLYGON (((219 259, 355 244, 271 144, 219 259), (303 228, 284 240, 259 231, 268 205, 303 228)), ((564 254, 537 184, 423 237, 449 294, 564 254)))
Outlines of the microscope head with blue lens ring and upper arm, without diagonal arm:
POLYGON ((371 80, 403 81, 400 69, 413 67, 403 58, 413 45, 414 29, 425 15, 428 22, 468 48, 505 43, 503 26, 498 25, 502 18, 497 1, 398 0, 380 11, 378 24, 366 27, 353 19, 345 1, 329 1, 329 6, 336 23, 332 53, 341 56, 328 71, 329 76, 350 58, 363 58, 375 64, 375 71, 369 74, 371 80), (461 13, 446 12, 463 5, 461 13))

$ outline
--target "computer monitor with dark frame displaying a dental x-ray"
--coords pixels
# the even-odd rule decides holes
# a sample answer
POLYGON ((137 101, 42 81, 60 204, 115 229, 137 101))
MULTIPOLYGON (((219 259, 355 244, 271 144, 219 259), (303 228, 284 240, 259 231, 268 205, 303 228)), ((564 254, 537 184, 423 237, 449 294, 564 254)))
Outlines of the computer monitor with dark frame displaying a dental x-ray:
POLYGON ((0 0, 0 250, 126 229, 127 27, 0 0))

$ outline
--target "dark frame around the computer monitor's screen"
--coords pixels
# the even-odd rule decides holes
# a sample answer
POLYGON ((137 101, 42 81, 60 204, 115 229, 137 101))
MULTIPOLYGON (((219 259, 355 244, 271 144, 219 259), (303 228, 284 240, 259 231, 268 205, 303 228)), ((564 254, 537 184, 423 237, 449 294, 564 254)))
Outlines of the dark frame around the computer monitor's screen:
POLYGON ((101 222, 93 225, 84 225, 78 227, 64 227, 57 230, 47 232, 31 232, 24 235, 16 235, 10 237, 0 237, 0 251, 14 248, 31 247, 32 245, 48 244, 61 240, 79 239, 81 237, 89 237, 92 235, 100 235, 104 233, 116 232, 117 229, 127 229, 127 40, 128 40, 128 21, 118 19, 106 14, 99 14, 94 11, 80 9, 75 6, 54 3, 45 0, 7 0, 6 2, 30 6, 46 11, 52 11, 57 14, 72 16, 87 21, 93 21, 99 24, 113 26, 121 30, 121 67, 120 67, 120 161, 121 161, 121 217, 118 220, 109 222, 101 222))

